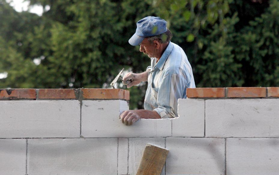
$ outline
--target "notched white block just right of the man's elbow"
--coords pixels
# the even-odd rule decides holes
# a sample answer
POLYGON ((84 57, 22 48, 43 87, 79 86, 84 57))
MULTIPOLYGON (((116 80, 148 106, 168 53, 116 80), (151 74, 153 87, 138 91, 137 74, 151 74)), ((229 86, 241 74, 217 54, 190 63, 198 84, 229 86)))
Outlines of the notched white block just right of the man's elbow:
POLYGON ((172 120, 173 137, 204 137, 204 99, 178 99, 178 115, 172 120))

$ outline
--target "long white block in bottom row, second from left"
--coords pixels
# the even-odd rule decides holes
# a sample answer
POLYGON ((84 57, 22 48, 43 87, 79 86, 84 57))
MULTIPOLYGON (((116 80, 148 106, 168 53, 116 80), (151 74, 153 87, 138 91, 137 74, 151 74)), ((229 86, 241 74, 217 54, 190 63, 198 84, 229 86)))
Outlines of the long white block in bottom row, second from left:
POLYGON ((28 139, 28 175, 117 175, 117 138, 28 139))

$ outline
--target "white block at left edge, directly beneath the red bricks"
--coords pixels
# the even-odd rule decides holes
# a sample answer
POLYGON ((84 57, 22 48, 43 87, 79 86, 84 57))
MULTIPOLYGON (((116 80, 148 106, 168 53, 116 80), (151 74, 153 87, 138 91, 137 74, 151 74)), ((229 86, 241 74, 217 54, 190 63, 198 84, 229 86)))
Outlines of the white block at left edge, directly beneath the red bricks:
POLYGON ((0 101, 0 138, 79 137, 78 100, 0 101))

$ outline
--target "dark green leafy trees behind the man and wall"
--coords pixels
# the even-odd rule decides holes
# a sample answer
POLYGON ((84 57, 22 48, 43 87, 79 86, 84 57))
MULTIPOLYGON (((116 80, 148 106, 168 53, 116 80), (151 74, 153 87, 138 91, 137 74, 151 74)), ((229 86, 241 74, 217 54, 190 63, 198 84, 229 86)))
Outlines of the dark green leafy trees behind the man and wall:
MULTIPOLYGON (((197 87, 279 86, 278 0, 30 3, 50 10, 19 13, 0 0, 0 88, 110 88, 123 67, 145 71, 150 59, 128 40, 146 16, 167 20, 197 87)), ((145 89, 129 89, 130 109, 142 108, 145 89)))

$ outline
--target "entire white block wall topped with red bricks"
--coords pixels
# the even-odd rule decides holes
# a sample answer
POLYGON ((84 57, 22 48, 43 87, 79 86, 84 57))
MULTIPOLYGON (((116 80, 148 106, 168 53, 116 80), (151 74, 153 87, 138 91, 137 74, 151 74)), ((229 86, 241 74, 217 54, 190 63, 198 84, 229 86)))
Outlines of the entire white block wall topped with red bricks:
POLYGON ((162 175, 278 175, 279 88, 195 88, 179 117, 124 125, 122 89, 0 90, 0 175, 135 175, 146 143, 162 175))

